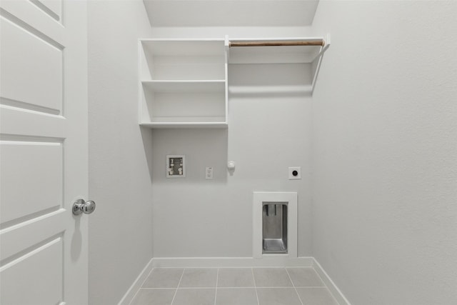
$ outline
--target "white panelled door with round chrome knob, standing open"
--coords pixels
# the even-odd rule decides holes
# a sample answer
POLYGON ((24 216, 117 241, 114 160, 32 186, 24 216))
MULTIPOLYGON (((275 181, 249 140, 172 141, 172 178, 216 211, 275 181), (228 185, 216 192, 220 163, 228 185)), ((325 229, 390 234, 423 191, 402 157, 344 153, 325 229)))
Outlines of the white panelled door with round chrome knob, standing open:
POLYGON ((86 3, 0 2, 0 304, 87 304, 86 3))

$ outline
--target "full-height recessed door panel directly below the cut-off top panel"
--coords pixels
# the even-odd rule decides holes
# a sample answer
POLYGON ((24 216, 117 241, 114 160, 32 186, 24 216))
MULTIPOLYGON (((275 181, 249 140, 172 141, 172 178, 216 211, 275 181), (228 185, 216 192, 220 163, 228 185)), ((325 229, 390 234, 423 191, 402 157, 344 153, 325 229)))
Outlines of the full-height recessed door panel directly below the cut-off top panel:
POLYGON ((0 26, 2 97, 60 114, 62 50, 8 19, 0 26))

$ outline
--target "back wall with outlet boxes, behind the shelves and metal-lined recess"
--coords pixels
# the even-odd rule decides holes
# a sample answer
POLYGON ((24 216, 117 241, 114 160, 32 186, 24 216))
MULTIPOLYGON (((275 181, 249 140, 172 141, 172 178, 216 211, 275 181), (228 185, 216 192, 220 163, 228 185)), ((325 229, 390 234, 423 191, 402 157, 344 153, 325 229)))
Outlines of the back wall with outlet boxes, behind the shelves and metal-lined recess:
MULTIPOLYGON (((303 36, 306 28, 154 29, 160 37, 303 36)), ((306 84, 303 64, 231 65, 229 84, 306 84)), ((231 94, 228 130, 154 130, 154 257, 252 257, 253 191, 298 191, 298 255, 311 255, 311 96, 231 94), (185 154, 185 179, 165 178, 166 154, 185 154), (236 161, 233 175, 227 161, 236 161), (205 180, 206 166, 214 180, 205 180), (302 180, 288 180, 301 166, 302 180)))

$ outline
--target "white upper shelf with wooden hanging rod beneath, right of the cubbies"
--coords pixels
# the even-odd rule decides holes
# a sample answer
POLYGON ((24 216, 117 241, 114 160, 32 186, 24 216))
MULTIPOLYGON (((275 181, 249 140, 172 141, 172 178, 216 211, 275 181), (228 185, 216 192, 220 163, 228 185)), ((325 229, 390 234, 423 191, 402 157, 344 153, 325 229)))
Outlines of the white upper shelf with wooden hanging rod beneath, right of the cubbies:
POLYGON ((229 64, 308 64, 329 44, 323 37, 230 39, 229 64))

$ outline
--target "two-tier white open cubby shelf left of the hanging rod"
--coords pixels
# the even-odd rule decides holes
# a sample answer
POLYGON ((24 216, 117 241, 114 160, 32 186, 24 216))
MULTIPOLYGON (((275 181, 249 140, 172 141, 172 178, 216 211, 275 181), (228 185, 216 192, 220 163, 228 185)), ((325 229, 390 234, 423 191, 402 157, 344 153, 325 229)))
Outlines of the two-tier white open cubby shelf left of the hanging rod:
POLYGON ((139 53, 141 126, 227 127, 224 39, 144 39, 139 53))

